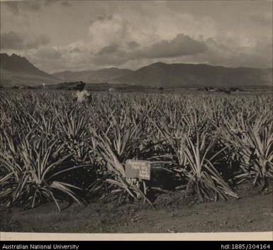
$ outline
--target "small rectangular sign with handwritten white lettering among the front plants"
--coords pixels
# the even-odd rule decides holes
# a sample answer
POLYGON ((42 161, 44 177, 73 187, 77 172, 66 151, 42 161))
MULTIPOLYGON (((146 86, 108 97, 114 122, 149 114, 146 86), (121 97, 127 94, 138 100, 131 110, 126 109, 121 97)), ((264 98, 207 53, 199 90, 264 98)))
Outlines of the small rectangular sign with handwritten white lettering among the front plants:
POLYGON ((127 160, 125 165, 125 175, 128 178, 139 178, 150 180, 150 161, 127 160))

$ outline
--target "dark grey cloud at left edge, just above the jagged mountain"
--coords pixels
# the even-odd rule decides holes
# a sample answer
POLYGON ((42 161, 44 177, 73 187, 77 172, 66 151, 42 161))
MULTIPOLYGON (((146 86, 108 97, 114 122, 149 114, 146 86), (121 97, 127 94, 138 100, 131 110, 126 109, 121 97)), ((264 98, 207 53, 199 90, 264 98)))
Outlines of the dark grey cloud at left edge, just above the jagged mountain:
POLYGON ((46 35, 30 34, 29 36, 9 31, 1 33, 1 49, 5 50, 24 50, 39 48, 50 42, 50 38, 46 35))

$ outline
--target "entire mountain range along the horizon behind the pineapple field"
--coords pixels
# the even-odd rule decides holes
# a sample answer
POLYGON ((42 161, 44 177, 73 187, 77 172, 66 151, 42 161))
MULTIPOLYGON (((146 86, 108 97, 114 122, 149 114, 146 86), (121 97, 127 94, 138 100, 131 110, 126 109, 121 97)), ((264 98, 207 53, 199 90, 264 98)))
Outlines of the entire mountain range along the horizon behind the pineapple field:
POLYGON ((52 85, 83 81, 151 87, 263 87, 272 86, 272 68, 223 67, 206 64, 156 62, 138 70, 111 67, 101 70, 63 71, 48 74, 26 58, 0 54, 1 85, 52 85))

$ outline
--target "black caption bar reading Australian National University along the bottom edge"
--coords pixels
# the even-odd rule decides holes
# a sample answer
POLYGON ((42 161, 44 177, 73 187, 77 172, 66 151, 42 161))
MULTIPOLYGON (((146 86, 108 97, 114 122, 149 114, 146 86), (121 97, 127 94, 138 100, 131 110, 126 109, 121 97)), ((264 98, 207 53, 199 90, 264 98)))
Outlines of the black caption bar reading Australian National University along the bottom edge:
POLYGON ((85 250, 102 247, 118 247, 119 249, 132 249, 147 247, 155 249, 179 247, 180 249, 210 249, 210 250, 273 250, 272 241, 1 241, 0 249, 42 249, 42 250, 85 250))

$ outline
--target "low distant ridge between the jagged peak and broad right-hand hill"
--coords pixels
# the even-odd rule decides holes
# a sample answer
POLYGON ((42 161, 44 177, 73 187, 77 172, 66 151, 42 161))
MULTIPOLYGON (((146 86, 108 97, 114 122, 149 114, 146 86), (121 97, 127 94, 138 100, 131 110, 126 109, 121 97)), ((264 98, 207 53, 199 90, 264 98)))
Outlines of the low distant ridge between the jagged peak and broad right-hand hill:
POLYGON ((101 70, 84 70, 84 71, 63 71, 52 74, 53 77, 57 77, 61 80, 74 82, 74 81, 83 81, 83 82, 108 82, 128 73, 133 72, 133 70, 118 69, 117 67, 111 67, 101 70))

